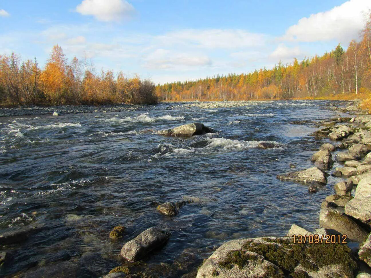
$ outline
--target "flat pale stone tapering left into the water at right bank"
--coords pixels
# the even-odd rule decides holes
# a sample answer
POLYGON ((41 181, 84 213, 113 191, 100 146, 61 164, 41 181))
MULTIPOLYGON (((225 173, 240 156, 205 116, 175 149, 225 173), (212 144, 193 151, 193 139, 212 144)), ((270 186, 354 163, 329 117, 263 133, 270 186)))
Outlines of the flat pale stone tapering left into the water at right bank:
POLYGON ((317 167, 296 172, 283 173, 282 175, 277 175, 277 178, 281 181, 296 181, 304 183, 318 182, 321 184, 327 183, 324 172, 317 167))

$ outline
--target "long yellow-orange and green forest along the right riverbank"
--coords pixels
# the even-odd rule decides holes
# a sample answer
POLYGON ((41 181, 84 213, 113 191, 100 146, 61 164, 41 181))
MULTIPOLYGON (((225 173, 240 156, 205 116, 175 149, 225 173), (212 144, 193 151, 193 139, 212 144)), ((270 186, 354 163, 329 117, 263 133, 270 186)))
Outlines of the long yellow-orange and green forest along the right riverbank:
POLYGON ((361 40, 322 56, 279 62, 272 69, 234 73, 156 86, 160 100, 249 100, 331 97, 371 93, 371 13, 361 40))

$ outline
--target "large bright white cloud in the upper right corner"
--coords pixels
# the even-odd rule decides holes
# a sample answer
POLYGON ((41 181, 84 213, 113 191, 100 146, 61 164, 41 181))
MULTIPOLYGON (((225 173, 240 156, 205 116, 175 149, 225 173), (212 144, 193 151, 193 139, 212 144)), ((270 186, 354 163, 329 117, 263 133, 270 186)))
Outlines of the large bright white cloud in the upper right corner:
POLYGON ((363 12, 371 8, 370 0, 350 0, 331 10, 303 17, 286 30, 283 40, 316 42, 338 40, 348 43, 358 36, 364 25, 363 12))

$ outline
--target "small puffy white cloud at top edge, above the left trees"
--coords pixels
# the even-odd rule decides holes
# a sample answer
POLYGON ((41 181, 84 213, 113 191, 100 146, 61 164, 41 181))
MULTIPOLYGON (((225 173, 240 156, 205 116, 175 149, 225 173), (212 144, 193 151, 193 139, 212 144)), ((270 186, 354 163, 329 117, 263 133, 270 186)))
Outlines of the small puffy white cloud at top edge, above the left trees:
POLYGON ((134 12, 134 7, 125 0, 83 0, 76 11, 99 21, 121 21, 134 12))

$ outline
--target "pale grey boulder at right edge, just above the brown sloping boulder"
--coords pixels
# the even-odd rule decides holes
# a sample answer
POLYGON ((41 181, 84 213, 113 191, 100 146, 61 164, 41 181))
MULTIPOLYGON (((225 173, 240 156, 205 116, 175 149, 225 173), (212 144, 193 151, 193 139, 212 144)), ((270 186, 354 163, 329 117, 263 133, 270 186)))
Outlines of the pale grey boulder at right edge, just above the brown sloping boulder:
POLYGON ((345 205, 345 214, 359 219, 365 224, 371 221, 371 196, 361 196, 351 199, 345 205))

